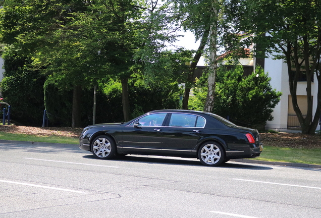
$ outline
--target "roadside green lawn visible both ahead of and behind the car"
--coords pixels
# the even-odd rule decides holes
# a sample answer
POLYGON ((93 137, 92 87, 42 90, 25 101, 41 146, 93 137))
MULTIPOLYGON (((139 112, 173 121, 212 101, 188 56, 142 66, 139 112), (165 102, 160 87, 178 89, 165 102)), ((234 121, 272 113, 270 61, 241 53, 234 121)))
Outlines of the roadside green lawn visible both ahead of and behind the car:
MULTIPOLYGON (((34 141, 63 144, 78 144, 77 138, 61 136, 34 136, 26 134, 14 134, 0 132, 0 139, 14 141, 34 141)), ((307 163, 321 165, 321 149, 303 149, 303 148, 280 148, 264 146, 263 152, 257 160, 307 163)))

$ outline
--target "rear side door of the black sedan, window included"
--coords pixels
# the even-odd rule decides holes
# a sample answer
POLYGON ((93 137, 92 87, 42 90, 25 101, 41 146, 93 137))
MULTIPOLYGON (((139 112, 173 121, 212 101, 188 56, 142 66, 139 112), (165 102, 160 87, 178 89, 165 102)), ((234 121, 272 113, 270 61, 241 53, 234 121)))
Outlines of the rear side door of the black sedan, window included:
POLYGON ((166 127, 163 128, 162 152, 167 155, 191 153, 201 137, 204 126, 205 119, 198 115, 171 113, 166 127))

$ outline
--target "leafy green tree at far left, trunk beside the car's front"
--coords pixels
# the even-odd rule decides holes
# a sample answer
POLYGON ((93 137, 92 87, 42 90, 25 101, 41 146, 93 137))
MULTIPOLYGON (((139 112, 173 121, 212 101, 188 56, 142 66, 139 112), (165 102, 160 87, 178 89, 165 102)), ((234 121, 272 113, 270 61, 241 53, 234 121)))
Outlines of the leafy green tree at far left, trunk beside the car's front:
MULTIPOLYGON (((65 27, 72 28, 69 24, 74 19, 73 13, 84 10, 86 6, 82 1, 6 1, 0 19, 0 39, 6 44, 5 53, 15 52, 19 57, 32 60, 34 70, 43 71, 56 79, 61 87, 66 88, 68 84, 74 90, 74 127, 80 126, 78 102, 81 82, 86 75, 84 65, 75 63, 77 58, 81 59, 77 52, 81 47, 65 27), (75 65, 84 71, 71 70, 70 66, 75 65)), ((86 60, 84 62, 86 65, 86 60)))

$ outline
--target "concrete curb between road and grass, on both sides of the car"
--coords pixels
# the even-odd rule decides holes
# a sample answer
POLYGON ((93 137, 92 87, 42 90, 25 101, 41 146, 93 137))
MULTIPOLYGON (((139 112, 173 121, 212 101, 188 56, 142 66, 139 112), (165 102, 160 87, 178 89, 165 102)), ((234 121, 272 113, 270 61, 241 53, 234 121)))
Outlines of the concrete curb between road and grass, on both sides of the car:
MULTIPOLYGON (((11 141, 11 140, 1 140, 0 143, 20 143, 20 144, 33 144, 33 145, 51 145, 51 146, 59 146, 59 145, 73 145, 78 146, 78 144, 60 144, 60 143, 48 143, 48 142, 32 142, 32 141, 11 141)), ((270 161, 262 161, 255 159, 231 159, 234 162, 244 162, 244 163, 257 163, 262 165, 276 165, 276 166, 285 166, 285 167, 300 167, 300 168, 319 168, 321 169, 321 165, 309 165, 306 163, 290 163, 290 162, 270 162, 270 161)))

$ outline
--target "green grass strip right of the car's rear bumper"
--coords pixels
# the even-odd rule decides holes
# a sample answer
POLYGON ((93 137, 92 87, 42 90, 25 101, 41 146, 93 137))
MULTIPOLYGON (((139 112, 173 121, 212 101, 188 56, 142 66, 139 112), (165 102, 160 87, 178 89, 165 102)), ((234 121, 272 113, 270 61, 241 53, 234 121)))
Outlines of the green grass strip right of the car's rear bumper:
POLYGON ((321 149, 284 148, 264 146, 256 160, 321 165, 321 149))

